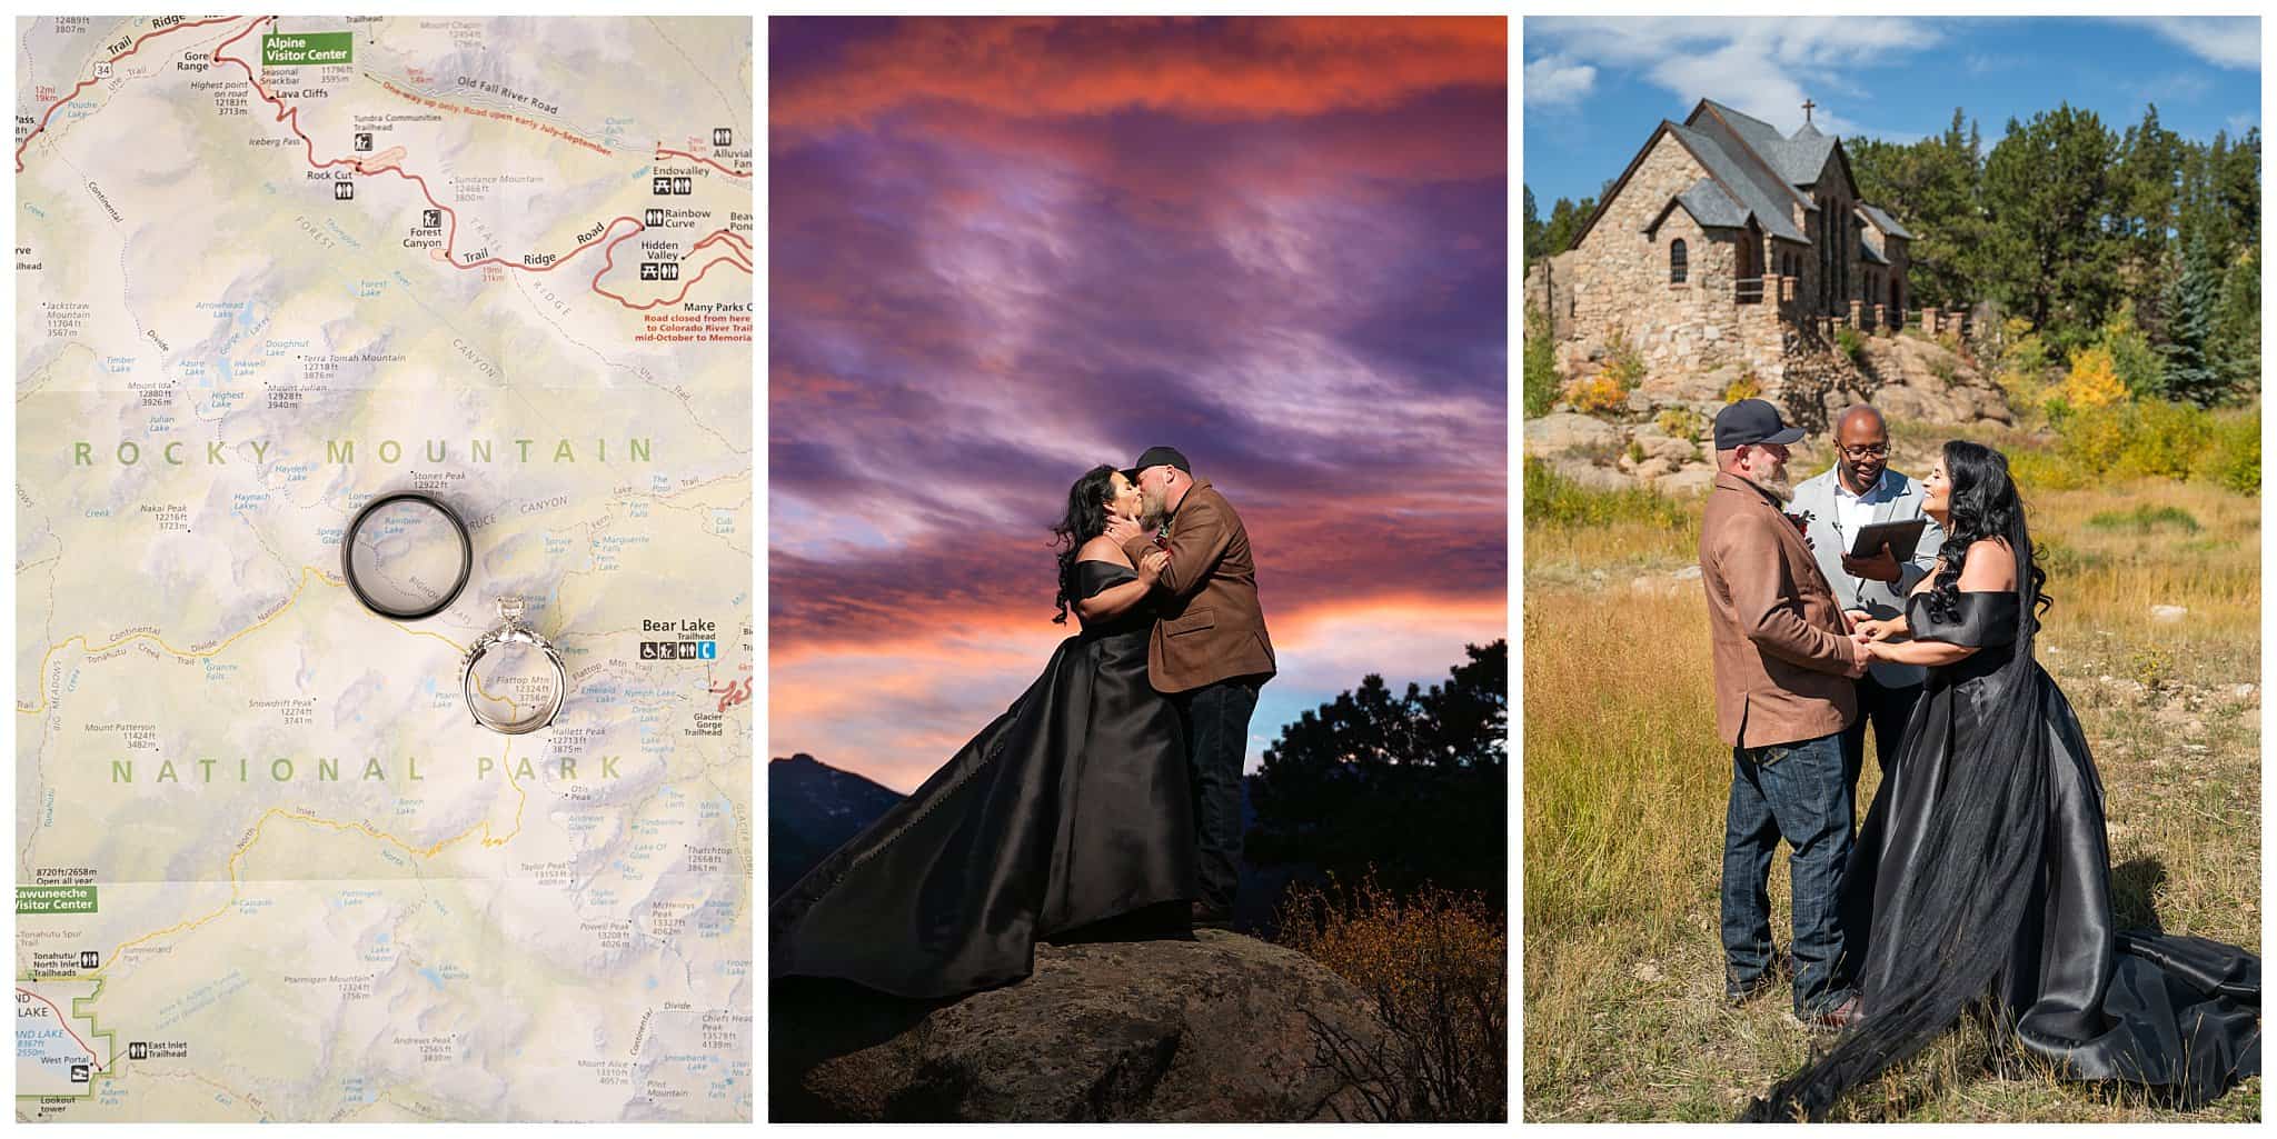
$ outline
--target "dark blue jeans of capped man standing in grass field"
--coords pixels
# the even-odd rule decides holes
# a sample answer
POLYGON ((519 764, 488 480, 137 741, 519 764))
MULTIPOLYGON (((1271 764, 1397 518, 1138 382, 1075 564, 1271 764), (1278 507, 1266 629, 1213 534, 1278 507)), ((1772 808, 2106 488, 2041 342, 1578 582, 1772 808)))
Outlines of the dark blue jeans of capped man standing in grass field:
POLYGON ((1849 1000, 1842 984, 1842 868, 1851 852, 1851 781, 1842 734, 1731 749, 1724 811, 1724 984, 1772 968, 1772 852, 1785 838, 1794 879, 1794 1011, 1849 1000))

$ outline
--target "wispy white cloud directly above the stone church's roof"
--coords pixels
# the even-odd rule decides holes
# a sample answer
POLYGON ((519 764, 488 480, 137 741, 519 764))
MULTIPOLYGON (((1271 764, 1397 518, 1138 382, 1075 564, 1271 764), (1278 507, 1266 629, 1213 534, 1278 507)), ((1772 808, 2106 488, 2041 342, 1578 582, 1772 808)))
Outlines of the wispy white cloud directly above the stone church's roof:
POLYGON ((1922 21, 1888 16, 1526 21, 1526 41, 1551 46, 1553 59, 1635 71, 1676 96, 1680 109, 1712 98, 1792 132, 1810 98, 1819 103, 1810 121, 1828 134, 1858 132, 1856 118, 1824 98, 1858 93, 1851 71, 1899 66, 1940 39, 1922 21))

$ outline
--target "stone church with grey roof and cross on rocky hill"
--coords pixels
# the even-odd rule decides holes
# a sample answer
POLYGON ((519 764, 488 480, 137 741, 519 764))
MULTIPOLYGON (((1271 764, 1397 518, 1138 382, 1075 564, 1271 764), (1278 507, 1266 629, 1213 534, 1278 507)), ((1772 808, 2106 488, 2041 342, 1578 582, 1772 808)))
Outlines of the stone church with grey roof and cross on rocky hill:
POLYGON ((1653 128, 1573 246, 1528 273, 1569 374, 1626 337, 1655 374, 1776 387, 1835 326, 1904 323, 1913 235, 1860 200, 1812 109, 1794 134, 1712 100, 1653 128))

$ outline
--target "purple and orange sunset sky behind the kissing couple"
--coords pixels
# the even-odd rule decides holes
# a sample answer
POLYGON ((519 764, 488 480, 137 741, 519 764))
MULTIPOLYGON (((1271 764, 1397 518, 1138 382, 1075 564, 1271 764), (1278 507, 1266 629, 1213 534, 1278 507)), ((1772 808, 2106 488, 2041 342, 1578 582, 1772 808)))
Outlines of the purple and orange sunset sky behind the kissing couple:
POLYGON ((770 756, 911 790, 1179 446, 1280 656, 1250 765, 1505 636, 1501 18, 770 21, 770 756))

